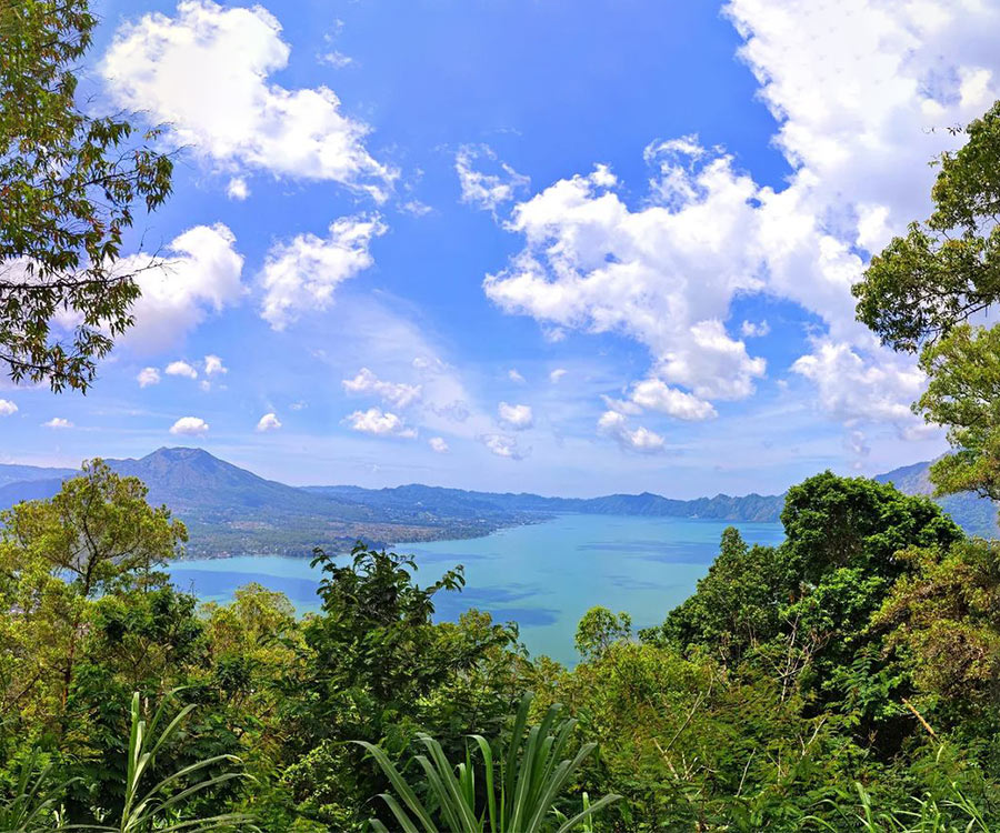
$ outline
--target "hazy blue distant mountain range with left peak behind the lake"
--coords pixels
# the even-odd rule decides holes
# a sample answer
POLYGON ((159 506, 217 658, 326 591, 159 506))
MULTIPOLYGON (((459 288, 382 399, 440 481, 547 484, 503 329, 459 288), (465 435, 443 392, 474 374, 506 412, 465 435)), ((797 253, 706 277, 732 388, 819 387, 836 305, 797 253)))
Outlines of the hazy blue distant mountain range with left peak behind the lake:
MULTIPOLYGON (((784 502, 783 495, 761 494, 674 500, 643 492, 580 499, 420 484, 296 488, 260 478, 201 449, 184 448, 107 462, 118 473, 142 480, 151 503, 166 503, 184 521, 191 555, 218 558, 237 553, 304 555, 317 544, 337 550, 359 538, 376 545, 474 538, 560 512, 767 522, 779 519, 784 502)), ((876 480, 892 482, 908 494, 930 494, 929 465, 916 463, 876 480)), ((50 498, 66 478, 77 473, 0 464, 0 509, 50 498)), ((1000 534, 990 501, 951 495, 939 502, 968 532, 1000 534)))

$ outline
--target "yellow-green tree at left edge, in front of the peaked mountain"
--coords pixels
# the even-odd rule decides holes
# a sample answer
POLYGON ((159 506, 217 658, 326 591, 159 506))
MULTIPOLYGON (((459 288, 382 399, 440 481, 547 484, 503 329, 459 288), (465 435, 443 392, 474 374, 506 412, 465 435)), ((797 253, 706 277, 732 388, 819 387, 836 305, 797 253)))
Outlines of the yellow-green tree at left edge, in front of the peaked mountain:
POLYGON ((187 531, 146 494, 93 460, 51 500, 0 512, 3 716, 34 702, 61 720, 98 600, 110 612, 116 595, 167 582, 187 531))

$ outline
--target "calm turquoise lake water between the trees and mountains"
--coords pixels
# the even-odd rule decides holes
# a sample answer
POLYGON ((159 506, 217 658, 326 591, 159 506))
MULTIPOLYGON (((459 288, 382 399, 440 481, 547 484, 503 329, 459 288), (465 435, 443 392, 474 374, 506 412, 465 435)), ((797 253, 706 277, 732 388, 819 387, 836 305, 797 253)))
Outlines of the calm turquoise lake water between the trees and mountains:
MULTIPOLYGON (((417 556, 427 584, 456 564, 466 568, 461 593, 439 593, 440 619, 478 608, 513 620, 533 655, 576 660, 573 634, 588 609, 627 611, 637 628, 657 624, 694 590, 729 523, 687 518, 560 515, 529 526, 462 541, 400 544, 417 556)), ((750 543, 774 544, 777 523, 736 523, 750 543)), ((204 600, 227 601, 248 582, 284 592, 300 612, 316 610, 317 572, 304 559, 243 555, 171 565, 174 583, 204 600)))

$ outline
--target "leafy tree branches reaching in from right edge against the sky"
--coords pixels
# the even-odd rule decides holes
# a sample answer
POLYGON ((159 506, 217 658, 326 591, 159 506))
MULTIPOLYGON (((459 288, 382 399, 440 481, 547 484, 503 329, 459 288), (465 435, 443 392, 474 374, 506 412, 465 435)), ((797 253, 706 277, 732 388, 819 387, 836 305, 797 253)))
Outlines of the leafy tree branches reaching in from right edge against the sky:
POLYGON ((939 494, 1000 496, 1000 330, 968 319, 1000 300, 1000 101, 942 153, 934 210, 896 238, 853 288, 858 318, 930 378, 913 405, 949 429, 954 454, 931 468, 939 494))

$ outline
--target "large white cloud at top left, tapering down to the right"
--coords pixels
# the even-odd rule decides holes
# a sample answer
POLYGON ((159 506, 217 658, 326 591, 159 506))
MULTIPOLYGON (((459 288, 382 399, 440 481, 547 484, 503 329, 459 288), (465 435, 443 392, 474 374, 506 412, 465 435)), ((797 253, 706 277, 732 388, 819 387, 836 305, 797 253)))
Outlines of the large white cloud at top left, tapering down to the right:
POLYGON ((183 0, 173 17, 120 27, 101 72, 118 106, 170 124, 178 143, 218 168, 331 180, 384 199, 396 172, 371 157, 368 127, 341 112, 337 94, 268 80, 289 53, 262 6, 183 0))

